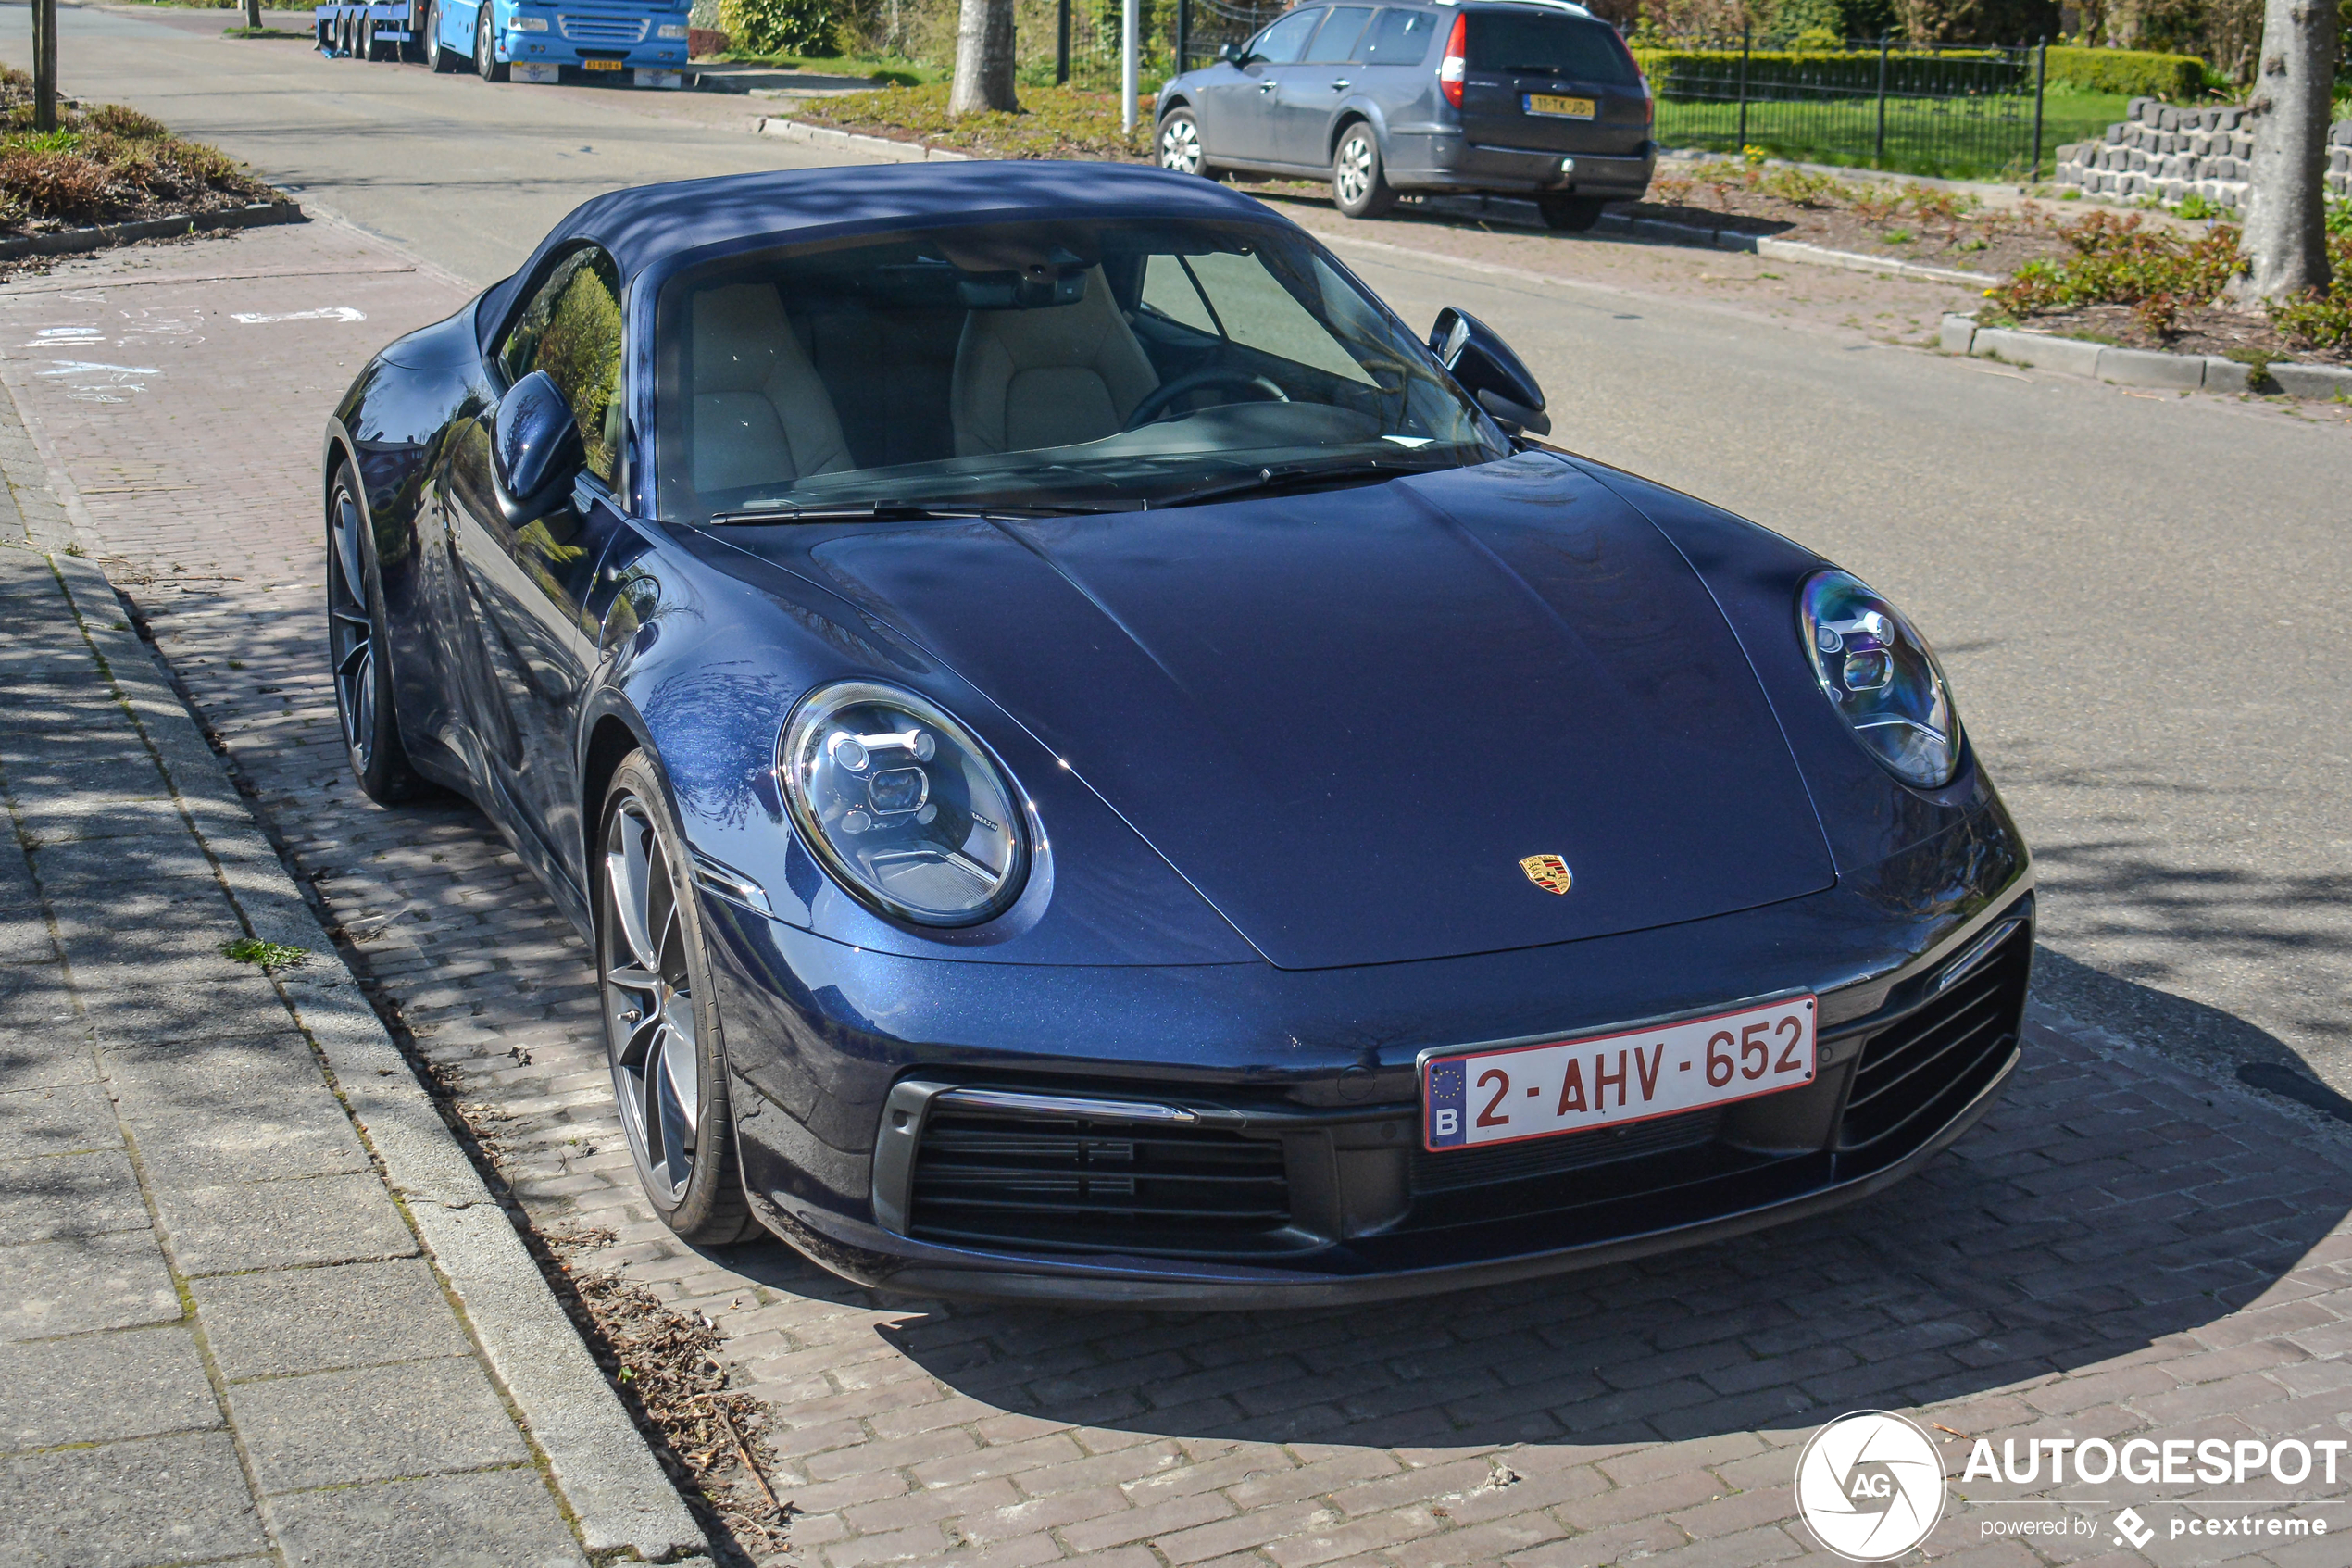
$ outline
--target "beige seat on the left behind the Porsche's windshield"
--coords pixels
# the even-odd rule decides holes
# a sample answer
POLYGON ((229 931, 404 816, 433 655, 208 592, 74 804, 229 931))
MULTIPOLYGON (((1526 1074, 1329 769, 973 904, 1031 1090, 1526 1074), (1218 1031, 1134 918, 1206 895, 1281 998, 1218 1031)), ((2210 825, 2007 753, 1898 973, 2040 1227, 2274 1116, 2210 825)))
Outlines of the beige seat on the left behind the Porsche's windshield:
POLYGON ((774 284, 694 296, 691 468, 706 494, 856 468, 774 284))

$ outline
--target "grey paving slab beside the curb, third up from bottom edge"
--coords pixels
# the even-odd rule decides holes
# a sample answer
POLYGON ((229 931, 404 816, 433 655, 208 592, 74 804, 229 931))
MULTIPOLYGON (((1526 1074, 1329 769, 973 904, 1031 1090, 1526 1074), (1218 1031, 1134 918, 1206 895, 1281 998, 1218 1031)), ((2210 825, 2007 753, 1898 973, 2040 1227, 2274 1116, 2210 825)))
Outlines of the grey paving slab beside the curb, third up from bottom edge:
POLYGON ((470 1349, 423 1258, 223 1274, 188 1291, 230 1382, 470 1349))

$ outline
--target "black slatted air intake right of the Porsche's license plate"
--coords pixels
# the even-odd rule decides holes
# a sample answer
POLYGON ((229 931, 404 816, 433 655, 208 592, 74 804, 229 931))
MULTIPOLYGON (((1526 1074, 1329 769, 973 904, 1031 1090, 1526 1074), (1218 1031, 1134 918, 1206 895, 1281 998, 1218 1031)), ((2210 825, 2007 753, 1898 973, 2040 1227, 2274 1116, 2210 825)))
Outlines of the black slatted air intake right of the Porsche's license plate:
POLYGON ((1863 1044, 1846 1093, 1839 1147, 1860 1150, 1910 1128, 1943 1126, 2018 1048, 2032 929, 2018 926, 1950 990, 1863 1044))

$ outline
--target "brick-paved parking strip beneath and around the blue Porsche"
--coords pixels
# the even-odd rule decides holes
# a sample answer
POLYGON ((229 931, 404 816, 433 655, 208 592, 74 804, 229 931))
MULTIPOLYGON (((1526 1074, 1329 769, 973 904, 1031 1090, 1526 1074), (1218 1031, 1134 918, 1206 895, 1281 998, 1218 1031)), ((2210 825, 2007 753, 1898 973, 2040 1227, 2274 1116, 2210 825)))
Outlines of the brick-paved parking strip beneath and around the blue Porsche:
MULTIPOLYGON (((614 1227, 604 1258, 708 1314, 769 1399, 774 1481, 800 1509, 786 1561, 1743 1568, 1818 1552, 1795 1521, 1795 1446, 1853 1408, 1933 1422, 1955 1481, 1962 1434, 2347 1436, 2347 1143, 2072 1025, 2034 1025, 1997 1114, 1872 1204, 1501 1291, 1047 1312, 880 1300, 774 1244, 677 1246, 609 1112, 583 945, 468 806, 383 811, 341 764, 313 465, 360 357, 459 303, 400 266, 318 226, 80 263, 0 289, 0 374, 355 961, 461 1079, 515 1194, 541 1225, 614 1227), (336 303, 369 320, 226 324, 336 303), (139 339, 143 322, 183 329, 139 339), (151 374, 45 376, 66 355, 19 348, 99 329, 139 343, 108 355, 151 374)), ((2284 1493, 1971 1481, 1929 1556, 2319 1568, 2347 1561, 2347 1530, 2352 1469, 2284 1493), (2338 1540, 2159 1533, 2140 1554, 2110 1528, 2126 1502, 2161 1530, 2241 1497, 2291 1497, 2338 1540), (1985 1537, 2067 1500, 2098 1528, 1985 1537)))

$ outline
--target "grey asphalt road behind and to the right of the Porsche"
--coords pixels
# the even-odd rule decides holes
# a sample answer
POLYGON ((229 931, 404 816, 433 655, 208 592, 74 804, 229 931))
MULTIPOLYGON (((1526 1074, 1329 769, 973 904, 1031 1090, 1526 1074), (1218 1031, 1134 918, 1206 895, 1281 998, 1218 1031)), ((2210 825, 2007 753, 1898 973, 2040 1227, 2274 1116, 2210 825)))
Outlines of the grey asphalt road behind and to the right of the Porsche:
MULTIPOLYGON (((741 99, 485 87, 223 42, 219 21, 68 9, 66 89, 482 282, 597 190, 818 160, 743 134, 741 99)), ((0 59, 26 54, 24 7, 0 7, 0 59)), ((1597 240, 1557 240, 1545 270, 1569 282, 1534 282, 1435 254, 1428 226, 1359 233, 1381 244, 1343 254, 1406 320, 1458 303, 1510 336, 1557 440, 1783 529, 1915 614, 2039 851, 2046 1001, 2216 1072, 2293 1053, 2352 1091, 2340 411, 2129 395, 1581 284, 1613 249, 1597 240)))

